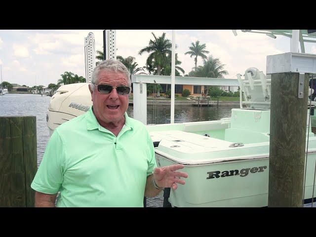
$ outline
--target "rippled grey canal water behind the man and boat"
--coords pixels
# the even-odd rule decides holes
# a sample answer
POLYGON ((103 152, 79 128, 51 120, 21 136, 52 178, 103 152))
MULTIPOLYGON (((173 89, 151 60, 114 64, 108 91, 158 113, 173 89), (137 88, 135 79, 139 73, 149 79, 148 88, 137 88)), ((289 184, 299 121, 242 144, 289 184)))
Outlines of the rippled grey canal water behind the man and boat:
MULTIPOLYGON (((50 101, 49 96, 34 94, 6 94, 0 96, 0 116, 36 116, 37 122, 37 150, 38 166, 45 152, 49 140, 49 129, 46 125, 46 113, 50 101)), ((193 107, 175 106, 175 122, 192 122, 218 120, 231 116, 231 109, 237 107, 193 107)), ((127 110, 129 117, 133 118, 133 107, 127 110)), ((147 106, 147 123, 170 123, 170 106, 147 106)), ((147 198, 148 207, 161 207, 162 198, 147 198)))

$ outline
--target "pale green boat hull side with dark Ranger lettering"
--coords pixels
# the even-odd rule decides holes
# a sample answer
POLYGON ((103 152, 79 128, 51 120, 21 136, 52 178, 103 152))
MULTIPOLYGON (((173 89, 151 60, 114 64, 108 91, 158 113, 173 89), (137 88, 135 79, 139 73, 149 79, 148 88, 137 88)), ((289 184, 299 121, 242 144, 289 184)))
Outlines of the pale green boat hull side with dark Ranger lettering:
MULTIPOLYGON (((157 153, 156 160, 158 166, 177 163, 157 153)), ((305 199, 312 198, 315 160, 316 153, 308 155, 305 199)), ((170 191, 168 200, 171 206, 268 206, 269 157, 204 165, 185 165, 183 171, 188 173, 189 178, 186 179, 185 185, 178 185, 177 190, 170 191)))

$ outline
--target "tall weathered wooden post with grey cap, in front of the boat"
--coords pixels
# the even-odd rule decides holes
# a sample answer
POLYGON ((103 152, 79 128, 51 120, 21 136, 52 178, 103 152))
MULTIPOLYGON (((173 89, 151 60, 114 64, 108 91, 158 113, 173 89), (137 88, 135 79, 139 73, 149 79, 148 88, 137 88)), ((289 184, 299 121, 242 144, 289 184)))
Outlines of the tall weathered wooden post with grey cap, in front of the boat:
POLYGON ((269 207, 303 206, 308 72, 313 72, 307 69, 308 60, 299 53, 267 57, 267 74, 271 74, 269 207))

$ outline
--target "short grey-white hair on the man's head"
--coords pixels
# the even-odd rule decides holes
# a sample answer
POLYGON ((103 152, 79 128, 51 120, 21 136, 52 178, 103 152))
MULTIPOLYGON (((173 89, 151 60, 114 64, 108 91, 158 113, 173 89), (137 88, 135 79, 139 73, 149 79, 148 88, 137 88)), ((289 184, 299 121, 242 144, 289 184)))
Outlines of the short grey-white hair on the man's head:
POLYGON ((94 87, 94 84, 98 82, 98 76, 101 71, 115 71, 124 73, 127 77, 128 86, 131 86, 130 76, 128 69, 118 60, 108 59, 99 63, 93 70, 91 76, 91 86, 94 87))

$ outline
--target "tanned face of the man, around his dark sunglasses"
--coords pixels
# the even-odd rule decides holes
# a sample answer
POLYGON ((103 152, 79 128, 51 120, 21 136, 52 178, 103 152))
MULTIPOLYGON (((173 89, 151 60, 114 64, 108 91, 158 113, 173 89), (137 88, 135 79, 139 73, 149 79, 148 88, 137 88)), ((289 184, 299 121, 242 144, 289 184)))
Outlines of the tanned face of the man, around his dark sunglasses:
MULTIPOLYGON (((107 84, 114 87, 119 85, 128 86, 128 79, 124 73, 115 71, 101 71, 96 84, 107 84)), ((93 90, 89 85, 93 102, 93 113, 105 123, 118 122, 124 118, 128 108, 128 95, 119 95, 117 89, 112 89, 109 94, 101 94, 95 85, 93 90)))

